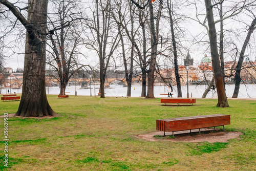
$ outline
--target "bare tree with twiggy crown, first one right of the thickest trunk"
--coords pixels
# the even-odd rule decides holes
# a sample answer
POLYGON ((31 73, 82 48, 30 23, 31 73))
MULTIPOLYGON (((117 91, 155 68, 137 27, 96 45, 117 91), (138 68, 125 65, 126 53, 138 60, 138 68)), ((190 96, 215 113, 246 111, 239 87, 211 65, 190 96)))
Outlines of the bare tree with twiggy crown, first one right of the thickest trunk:
POLYGON ((65 95, 65 90, 70 78, 75 72, 84 67, 79 62, 78 56, 84 56, 80 49, 83 46, 81 30, 79 31, 78 1, 54 1, 56 12, 50 14, 50 25, 53 28, 60 27, 59 30, 49 35, 50 50, 48 64, 58 73, 57 80, 60 82, 60 95, 65 95), (55 20, 51 19, 55 18, 55 20), (68 27, 65 26, 69 21, 68 27))

